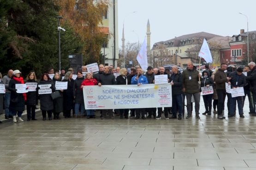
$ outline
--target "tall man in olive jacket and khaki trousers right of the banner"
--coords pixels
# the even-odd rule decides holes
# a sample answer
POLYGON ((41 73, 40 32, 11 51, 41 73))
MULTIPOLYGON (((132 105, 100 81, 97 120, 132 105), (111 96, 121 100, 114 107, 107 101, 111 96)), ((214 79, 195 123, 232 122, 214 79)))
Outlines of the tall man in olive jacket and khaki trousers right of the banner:
POLYGON ((195 99, 195 111, 196 119, 200 119, 199 108, 200 108, 200 89, 199 89, 199 77, 201 74, 197 71, 193 62, 188 62, 188 67, 182 72, 183 77, 183 92, 186 95, 187 99, 187 112, 188 115, 186 119, 191 118, 192 107, 191 107, 191 98, 194 96, 195 99))

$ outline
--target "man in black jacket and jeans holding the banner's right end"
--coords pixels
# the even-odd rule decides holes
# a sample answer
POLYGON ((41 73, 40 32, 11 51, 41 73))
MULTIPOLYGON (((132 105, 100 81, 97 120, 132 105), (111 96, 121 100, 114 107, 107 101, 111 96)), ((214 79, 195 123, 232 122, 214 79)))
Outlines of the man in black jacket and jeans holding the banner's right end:
POLYGON ((172 113, 173 116, 171 119, 177 119, 177 110, 179 111, 178 119, 182 118, 182 74, 179 72, 177 66, 173 66, 172 68, 173 74, 170 77, 171 85, 172 85, 172 113))

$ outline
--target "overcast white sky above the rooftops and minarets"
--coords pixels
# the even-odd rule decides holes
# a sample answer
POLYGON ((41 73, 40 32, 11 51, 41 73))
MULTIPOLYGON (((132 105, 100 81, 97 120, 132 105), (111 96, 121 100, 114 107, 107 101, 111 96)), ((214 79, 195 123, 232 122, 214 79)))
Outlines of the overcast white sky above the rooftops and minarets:
POLYGON ((125 24, 125 43, 142 44, 149 19, 152 45, 185 34, 207 32, 221 36, 256 30, 256 0, 118 0, 119 47, 125 24), (134 13, 134 11, 136 11, 134 13))

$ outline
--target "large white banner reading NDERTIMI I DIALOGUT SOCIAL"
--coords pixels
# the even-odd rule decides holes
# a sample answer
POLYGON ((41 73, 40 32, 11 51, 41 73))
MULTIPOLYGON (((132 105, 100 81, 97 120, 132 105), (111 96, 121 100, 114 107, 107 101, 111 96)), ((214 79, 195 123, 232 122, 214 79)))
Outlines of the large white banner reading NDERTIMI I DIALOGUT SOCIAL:
POLYGON ((172 107, 172 86, 89 85, 83 87, 85 109, 172 107))

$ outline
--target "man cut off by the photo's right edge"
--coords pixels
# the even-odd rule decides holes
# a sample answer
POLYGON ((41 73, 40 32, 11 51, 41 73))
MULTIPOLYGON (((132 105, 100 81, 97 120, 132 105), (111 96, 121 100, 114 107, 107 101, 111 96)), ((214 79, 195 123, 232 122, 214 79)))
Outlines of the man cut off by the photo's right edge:
POLYGON ((250 81, 250 91, 253 98, 253 116, 256 116, 256 64, 255 62, 250 62, 249 64, 251 74, 246 77, 246 80, 250 81))

